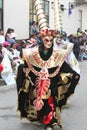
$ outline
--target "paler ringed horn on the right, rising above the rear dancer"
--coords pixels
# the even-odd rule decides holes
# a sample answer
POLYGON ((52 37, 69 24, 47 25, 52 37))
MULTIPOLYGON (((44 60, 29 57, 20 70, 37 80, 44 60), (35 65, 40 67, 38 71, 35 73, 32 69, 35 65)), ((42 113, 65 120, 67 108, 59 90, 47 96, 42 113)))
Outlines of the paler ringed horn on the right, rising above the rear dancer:
POLYGON ((63 30, 59 0, 54 0, 54 29, 63 30))

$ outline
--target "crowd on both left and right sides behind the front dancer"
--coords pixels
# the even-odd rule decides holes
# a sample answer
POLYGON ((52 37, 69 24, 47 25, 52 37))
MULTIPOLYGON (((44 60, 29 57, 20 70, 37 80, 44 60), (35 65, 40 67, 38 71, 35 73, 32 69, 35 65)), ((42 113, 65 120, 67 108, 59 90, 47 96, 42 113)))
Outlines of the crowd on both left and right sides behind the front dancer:
MULTIPOLYGON (((81 31, 80 28, 77 29, 75 34, 70 34, 64 31, 59 32, 61 34, 61 42, 55 42, 54 47, 61 48, 65 46, 65 42, 73 44, 73 53, 78 61, 83 61, 87 59, 87 30, 81 31)), ((0 29, 0 64, 6 64, 5 56, 8 56, 9 64, 5 65, 4 69, 0 73, 0 79, 3 79, 6 84, 10 84, 9 80, 5 76, 5 72, 10 73, 11 77, 15 78, 18 66, 23 63, 22 50, 23 48, 32 48, 34 46, 39 46, 41 44, 39 29, 37 22, 33 21, 30 31, 30 37, 25 40, 16 40, 16 34, 14 29, 8 28, 6 34, 4 35, 3 30, 0 29), (9 66, 9 67, 6 67, 9 66)), ((58 38, 57 38, 58 39, 58 38)), ((9 78, 8 78, 9 79, 9 78)), ((13 79, 12 79, 13 82, 13 79)), ((13 82, 14 83, 14 82, 13 82)))

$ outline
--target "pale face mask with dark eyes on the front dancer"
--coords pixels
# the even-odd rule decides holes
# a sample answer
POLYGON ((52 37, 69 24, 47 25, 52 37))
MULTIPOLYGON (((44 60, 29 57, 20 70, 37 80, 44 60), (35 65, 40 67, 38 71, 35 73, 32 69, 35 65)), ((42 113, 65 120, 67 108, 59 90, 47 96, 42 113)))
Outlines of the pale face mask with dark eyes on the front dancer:
POLYGON ((43 37, 43 43, 46 48, 51 48, 53 44, 53 37, 52 36, 45 36, 43 37))

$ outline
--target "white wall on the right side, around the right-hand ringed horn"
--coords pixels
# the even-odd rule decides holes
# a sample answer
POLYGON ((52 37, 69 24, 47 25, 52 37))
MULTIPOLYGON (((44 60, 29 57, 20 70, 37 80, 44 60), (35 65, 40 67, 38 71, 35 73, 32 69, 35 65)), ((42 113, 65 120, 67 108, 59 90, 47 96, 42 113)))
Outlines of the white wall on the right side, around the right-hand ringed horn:
MULTIPOLYGON (((50 1, 50 6, 51 2, 50 1)), ((64 5, 65 10, 61 11, 62 15, 62 23, 63 23, 63 30, 67 32, 68 35, 75 34, 77 31, 77 28, 80 27, 79 23, 79 10, 82 10, 82 30, 87 29, 87 4, 81 5, 79 7, 75 7, 72 10, 72 13, 69 15, 68 9, 69 9, 69 2, 76 2, 76 0, 59 0, 60 4, 64 5)), ((78 0, 79 1, 79 0, 78 0)), ((77 1, 77 2, 78 2, 77 1)), ((49 12, 49 25, 51 28, 54 28, 54 9, 51 9, 49 12)))

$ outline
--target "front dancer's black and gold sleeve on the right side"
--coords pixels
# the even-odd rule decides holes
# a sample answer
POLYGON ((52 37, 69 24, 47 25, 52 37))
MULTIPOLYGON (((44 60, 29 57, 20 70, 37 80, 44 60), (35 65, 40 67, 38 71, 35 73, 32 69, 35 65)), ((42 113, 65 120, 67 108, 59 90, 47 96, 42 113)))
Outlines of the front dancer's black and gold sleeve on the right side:
POLYGON ((76 73, 66 62, 63 63, 63 65, 60 69, 60 73, 63 73, 63 74, 64 73, 71 73, 71 75, 72 75, 71 77, 66 76, 66 78, 69 80, 69 83, 67 83, 66 85, 63 84, 63 87, 60 86, 58 88, 58 92, 60 94, 59 95, 60 100, 59 100, 58 105, 62 109, 63 106, 67 105, 68 98, 72 94, 74 94, 75 88, 76 88, 78 81, 80 79, 80 75, 78 73, 76 73), (78 78, 76 78, 76 76, 78 76, 78 78))

